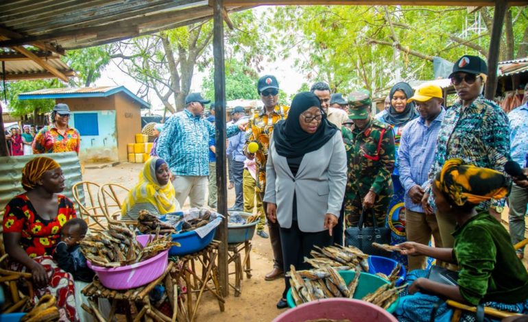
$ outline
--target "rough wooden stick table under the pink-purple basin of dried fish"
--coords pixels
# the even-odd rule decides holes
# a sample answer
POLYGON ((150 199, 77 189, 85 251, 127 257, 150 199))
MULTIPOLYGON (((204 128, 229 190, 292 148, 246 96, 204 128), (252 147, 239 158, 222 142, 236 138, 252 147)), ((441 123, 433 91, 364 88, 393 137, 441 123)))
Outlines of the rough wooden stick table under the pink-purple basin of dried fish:
MULTIPOLYGON (((93 282, 88 284, 82 290, 82 293, 88 297, 89 304, 88 306, 82 304, 82 308, 92 314, 99 322, 112 321, 115 317, 118 304, 124 304, 126 306, 125 315, 127 321, 140 321, 141 318, 144 318, 145 321, 176 321, 178 318, 178 288, 175 286, 176 283, 172 280, 171 275, 169 274, 175 266, 176 264, 174 262, 169 261, 167 269, 165 269, 163 274, 156 280, 150 282, 146 286, 131 288, 129 290, 110 290, 103 286, 97 277, 94 277, 93 282), (165 284, 165 293, 167 293, 167 297, 171 302, 173 309, 172 317, 167 317, 165 314, 154 308, 150 303, 149 292, 154 286, 162 282, 165 284), (103 314, 101 314, 98 306, 99 298, 108 299, 108 301, 110 301, 110 315, 108 316, 108 319, 105 319, 103 314), (137 312, 136 314, 132 314, 132 308, 137 312)), ((119 306, 121 307, 121 305, 119 306)), ((180 316, 181 315, 182 314, 180 314, 180 316)), ((184 321, 184 319, 180 317, 178 318, 178 321, 184 321)))

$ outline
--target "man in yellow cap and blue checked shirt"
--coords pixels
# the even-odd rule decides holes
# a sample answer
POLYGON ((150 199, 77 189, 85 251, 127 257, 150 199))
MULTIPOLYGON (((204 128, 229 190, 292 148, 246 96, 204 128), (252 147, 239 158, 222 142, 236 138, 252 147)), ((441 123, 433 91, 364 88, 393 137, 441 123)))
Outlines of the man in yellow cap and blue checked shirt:
MULTIPOLYGON (((442 88, 424 85, 407 102, 416 101, 420 117, 403 127, 398 149, 398 171, 405 188, 405 231, 407 240, 429 245, 431 235, 435 247, 442 247, 442 238, 434 214, 425 214, 422 208, 424 189, 431 165, 435 160, 436 140, 446 114, 442 107, 442 88)), ((409 256, 409 271, 425 269, 425 256, 409 256)))

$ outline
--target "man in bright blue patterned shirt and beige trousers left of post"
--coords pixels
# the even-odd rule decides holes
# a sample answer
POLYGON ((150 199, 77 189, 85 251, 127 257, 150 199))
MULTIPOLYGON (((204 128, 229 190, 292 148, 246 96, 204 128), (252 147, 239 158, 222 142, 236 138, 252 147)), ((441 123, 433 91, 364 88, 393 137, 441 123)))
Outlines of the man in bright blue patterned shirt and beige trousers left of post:
MULTIPOLYGON (((215 136, 215 127, 202 119, 206 101, 198 92, 185 98, 185 110, 171 116, 158 139, 158 156, 169 164, 174 175, 172 185, 176 199, 183 207, 189 197, 191 208, 203 207, 207 177, 209 175, 209 139, 215 136)), ((247 122, 246 122, 247 123, 247 122)), ((245 124, 226 129, 227 137, 245 130, 245 124)))

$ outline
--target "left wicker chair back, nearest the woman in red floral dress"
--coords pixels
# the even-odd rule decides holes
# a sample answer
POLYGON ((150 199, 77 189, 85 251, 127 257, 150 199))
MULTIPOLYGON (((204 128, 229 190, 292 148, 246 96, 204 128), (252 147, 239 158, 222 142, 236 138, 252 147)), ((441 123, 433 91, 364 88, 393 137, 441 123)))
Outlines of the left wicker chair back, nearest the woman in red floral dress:
POLYGON ((80 217, 86 221, 88 229, 93 232, 106 230, 108 225, 108 219, 97 198, 99 188, 99 184, 88 181, 77 182, 71 188, 80 217), (84 202, 81 201, 81 190, 84 191, 84 202))

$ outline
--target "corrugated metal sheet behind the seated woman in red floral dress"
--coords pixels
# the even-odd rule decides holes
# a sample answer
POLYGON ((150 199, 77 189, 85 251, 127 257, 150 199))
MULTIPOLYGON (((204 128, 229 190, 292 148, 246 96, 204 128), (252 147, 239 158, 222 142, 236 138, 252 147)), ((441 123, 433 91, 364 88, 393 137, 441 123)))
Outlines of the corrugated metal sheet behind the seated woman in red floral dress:
MULTIPOLYGON (((75 152, 64 152, 64 153, 46 153, 36 154, 32 156, 15 156, 15 157, 0 157, 0 216, 3 217, 3 210, 5 205, 16 195, 19 195, 25 190, 22 188, 22 169, 29 160, 37 156, 46 156, 56 160, 62 172, 64 173, 64 191, 63 195, 66 195, 73 201, 73 195, 71 193, 71 187, 73 184, 82 181, 81 166, 79 158, 75 152)), ((81 201, 84 200, 84 191, 81 189, 80 195, 81 201)), ((75 201, 73 201, 75 203, 75 201)), ((79 213, 77 205, 75 205, 75 211, 79 213)))

